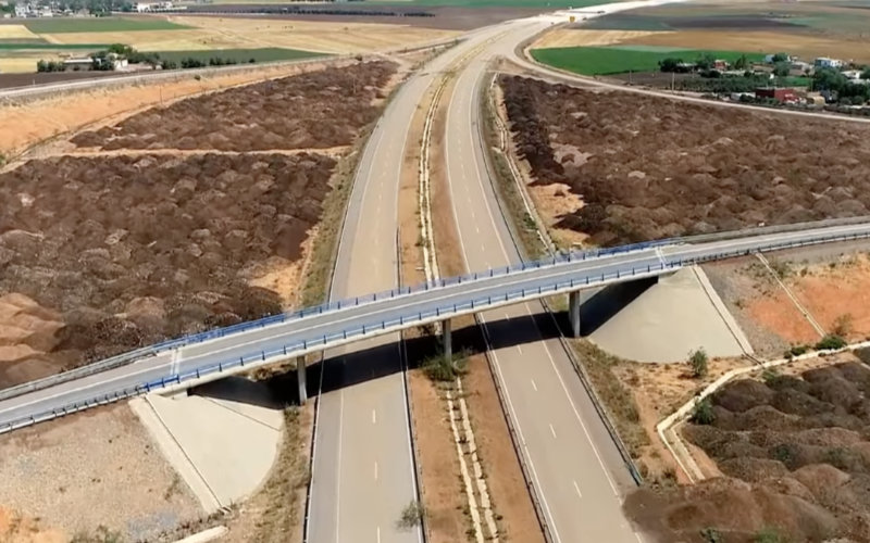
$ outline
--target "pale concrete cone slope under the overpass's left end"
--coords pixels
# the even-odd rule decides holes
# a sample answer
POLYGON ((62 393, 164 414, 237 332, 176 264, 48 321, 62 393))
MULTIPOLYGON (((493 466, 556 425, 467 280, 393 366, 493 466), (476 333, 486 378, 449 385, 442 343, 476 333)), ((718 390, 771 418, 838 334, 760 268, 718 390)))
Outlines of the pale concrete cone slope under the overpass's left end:
POLYGON ((216 381, 203 395, 130 401, 160 450, 213 513, 250 496, 277 456, 283 409, 244 378, 216 381), (206 395, 208 394, 208 395, 206 395))

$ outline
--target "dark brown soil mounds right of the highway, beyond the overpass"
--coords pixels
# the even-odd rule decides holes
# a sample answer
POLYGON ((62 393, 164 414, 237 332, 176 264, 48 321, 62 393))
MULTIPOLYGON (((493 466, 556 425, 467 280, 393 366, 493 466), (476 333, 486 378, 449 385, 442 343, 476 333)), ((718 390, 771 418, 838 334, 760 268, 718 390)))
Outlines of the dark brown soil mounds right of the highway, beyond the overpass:
POLYGON ((585 203, 558 226, 597 244, 870 213, 870 127, 500 85, 535 182, 566 184, 585 203))

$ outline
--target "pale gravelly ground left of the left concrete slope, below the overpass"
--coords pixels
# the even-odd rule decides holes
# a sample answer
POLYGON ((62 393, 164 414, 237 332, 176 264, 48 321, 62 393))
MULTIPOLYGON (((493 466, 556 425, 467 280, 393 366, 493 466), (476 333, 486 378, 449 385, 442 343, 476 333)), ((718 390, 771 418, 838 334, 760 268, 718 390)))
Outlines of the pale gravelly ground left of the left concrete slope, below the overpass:
POLYGON ((141 541, 201 515, 126 404, 0 437, 0 481, 2 506, 70 535, 141 541))

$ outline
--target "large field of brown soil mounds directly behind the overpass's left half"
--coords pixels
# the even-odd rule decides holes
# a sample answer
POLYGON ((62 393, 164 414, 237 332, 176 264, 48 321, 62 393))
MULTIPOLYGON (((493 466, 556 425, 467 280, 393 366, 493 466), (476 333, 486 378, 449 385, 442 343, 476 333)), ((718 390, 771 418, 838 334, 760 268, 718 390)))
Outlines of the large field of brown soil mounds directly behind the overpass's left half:
POLYGON ((58 369, 279 312, 248 278, 301 256, 334 165, 313 154, 28 162, 0 175, 0 290, 61 313, 40 344, 58 369))

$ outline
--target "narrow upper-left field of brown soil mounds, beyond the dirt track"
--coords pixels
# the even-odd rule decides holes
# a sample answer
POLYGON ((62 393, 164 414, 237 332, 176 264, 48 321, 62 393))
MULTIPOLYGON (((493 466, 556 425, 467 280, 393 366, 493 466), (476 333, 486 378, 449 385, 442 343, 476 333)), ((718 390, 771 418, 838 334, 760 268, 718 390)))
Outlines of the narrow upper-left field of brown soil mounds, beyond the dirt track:
POLYGON ((149 110, 72 139, 82 148, 257 151, 349 146, 377 118, 389 62, 326 68, 149 110))

